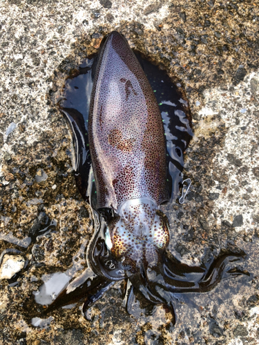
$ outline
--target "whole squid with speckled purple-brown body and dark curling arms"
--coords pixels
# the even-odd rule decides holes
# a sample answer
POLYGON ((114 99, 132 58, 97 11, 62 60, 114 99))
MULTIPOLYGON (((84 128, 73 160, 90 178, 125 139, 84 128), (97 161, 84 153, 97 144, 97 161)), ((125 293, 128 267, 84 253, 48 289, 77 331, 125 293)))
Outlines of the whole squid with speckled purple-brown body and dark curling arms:
MULTIPOLYGON (((80 143, 82 132, 73 130, 79 133, 80 143)), ((108 34, 99 52, 88 134, 97 191, 95 205, 90 204, 106 225, 101 221, 90 241, 87 270, 46 313, 81 297, 86 298, 85 313, 115 281, 125 278, 129 313, 135 294, 151 305, 166 304, 173 313, 173 293, 211 290, 225 273, 227 260, 242 257, 244 252, 229 248, 207 266, 195 267, 182 264, 166 251, 169 223, 160 210, 160 204, 169 200, 166 133, 144 71, 118 32, 108 34)), ((172 148, 173 141, 167 145, 172 148)))

